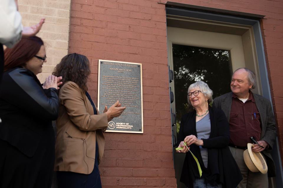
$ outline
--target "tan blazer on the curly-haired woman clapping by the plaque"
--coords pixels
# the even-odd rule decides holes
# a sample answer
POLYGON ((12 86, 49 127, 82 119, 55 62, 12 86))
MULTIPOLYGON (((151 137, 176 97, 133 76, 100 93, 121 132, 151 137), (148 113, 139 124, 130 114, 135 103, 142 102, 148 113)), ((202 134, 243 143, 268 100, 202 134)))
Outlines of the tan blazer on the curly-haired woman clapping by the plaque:
POLYGON ((108 126, 107 115, 94 115, 91 102, 74 82, 68 81, 62 86, 59 99, 54 170, 90 174, 94 167, 96 141, 98 163, 103 156, 102 129, 108 126))

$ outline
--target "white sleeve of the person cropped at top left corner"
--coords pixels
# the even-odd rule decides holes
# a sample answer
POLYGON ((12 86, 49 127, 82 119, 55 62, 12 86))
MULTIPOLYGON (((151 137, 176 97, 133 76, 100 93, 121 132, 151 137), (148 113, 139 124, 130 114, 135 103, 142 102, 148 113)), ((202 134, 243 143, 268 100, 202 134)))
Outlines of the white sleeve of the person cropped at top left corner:
POLYGON ((22 38, 22 16, 14 0, 0 3, 0 43, 12 48, 22 38))

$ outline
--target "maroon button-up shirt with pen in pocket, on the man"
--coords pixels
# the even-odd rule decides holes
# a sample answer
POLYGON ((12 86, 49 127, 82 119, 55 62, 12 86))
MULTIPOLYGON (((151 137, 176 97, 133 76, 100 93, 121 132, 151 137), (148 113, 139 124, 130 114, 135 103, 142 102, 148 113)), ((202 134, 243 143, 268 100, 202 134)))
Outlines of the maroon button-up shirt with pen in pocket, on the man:
POLYGON ((251 143, 251 136, 257 141, 260 139, 260 114, 251 92, 245 103, 233 94, 229 124, 230 143, 233 145, 246 147, 247 143, 251 143))

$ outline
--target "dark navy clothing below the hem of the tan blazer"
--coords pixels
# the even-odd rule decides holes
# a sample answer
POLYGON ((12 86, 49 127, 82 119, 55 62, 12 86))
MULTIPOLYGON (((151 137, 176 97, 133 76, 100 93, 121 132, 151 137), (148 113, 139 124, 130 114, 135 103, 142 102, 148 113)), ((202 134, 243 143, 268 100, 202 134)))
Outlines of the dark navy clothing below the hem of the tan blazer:
POLYGON ((57 171, 59 188, 101 188, 98 167, 94 165, 90 174, 57 171))

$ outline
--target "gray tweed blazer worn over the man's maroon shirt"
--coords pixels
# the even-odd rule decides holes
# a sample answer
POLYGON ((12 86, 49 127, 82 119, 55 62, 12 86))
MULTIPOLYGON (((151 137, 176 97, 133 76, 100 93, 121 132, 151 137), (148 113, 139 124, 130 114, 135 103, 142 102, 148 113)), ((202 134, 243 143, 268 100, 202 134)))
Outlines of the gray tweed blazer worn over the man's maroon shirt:
MULTIPOLYGON (((221 95, 213 100, 213 107, 220 108, 224 111, 228 121, 230 120, 230 112, 232 105, 232 92, 221 95)), ((260 140, 264 140, 268 143, 269 147, 262 151, 266 158, 266 163, 268 166, 268 176, 275 176, 275 165, 271 157, 271 150, 275 143, 277 136, 277 127, 275 126, 275 119, 272 111, 271 103, 268 99, 261 95, 255 94, 254 100, 256 102, 256 108, 260 113, 261 120, 261 137, 260 140)))

